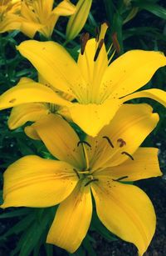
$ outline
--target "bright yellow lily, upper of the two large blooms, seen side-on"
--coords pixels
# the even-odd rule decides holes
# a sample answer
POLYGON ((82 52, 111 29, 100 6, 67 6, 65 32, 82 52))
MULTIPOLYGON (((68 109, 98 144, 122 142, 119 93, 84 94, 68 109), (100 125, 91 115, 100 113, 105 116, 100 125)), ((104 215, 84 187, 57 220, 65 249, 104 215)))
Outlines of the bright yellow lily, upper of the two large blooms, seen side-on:
POLYGON ((1 95, 0 108, 42 102, 66 106, 73 122, 95 137, 129 99, 153 98, 166 106, 166 92, 163 90, 153 88, 134 93, 149 82, 158 68, 166 64, 164 54, 131 50, 109 65, 103 43, 106 29, 104 24, 97 42, 90 39, 85 45, 83 40, 84 48, 81 48, 77 63, 58 43, 35 40, 21 43, 17 47, 19 52, 31 61, 51 87, 21 81, 19 86, 1 95), (77 102, 62 99, 57 95, 57 89, 70 94, 77 102))

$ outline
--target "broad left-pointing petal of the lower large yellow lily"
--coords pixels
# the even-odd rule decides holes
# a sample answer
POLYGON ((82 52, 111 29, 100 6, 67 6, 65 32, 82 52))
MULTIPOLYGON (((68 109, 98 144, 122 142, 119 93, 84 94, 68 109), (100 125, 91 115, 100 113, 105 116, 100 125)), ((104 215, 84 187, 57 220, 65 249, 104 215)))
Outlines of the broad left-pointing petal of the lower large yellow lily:
POLYGON ((77 183, 73 167, 61 161, 27 156, 4 173, 2 208, 49 207, 64 200, 77 183))

